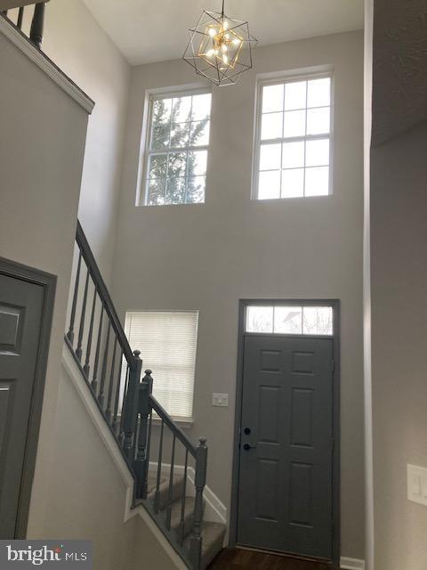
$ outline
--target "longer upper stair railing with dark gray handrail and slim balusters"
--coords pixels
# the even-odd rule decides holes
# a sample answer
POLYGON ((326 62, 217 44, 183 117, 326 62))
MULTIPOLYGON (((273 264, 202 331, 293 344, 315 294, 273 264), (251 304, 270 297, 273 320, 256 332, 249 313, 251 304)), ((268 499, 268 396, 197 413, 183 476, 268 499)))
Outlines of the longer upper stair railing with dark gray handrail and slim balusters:
POLYGON ((140 353, 133 353, 129 346, 79 222, 76 243, 77 265, 65 339, 117 444, 133 468, 140 353))

